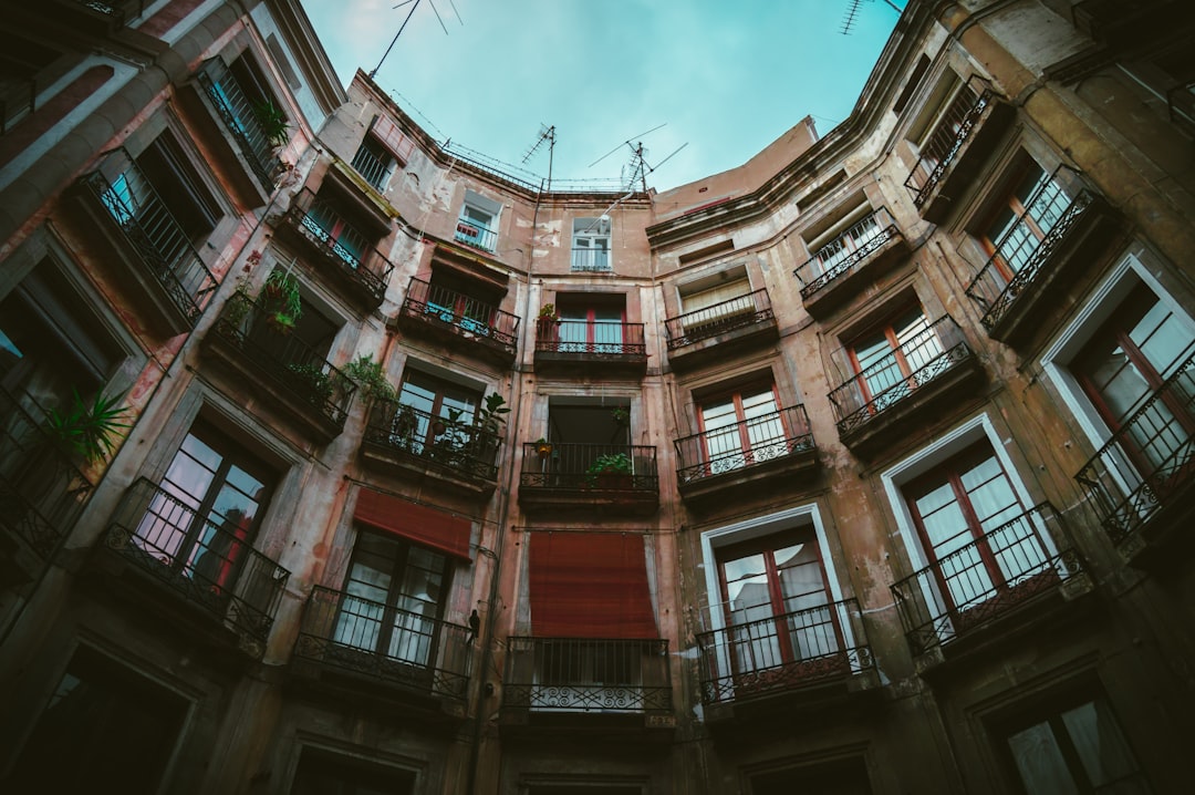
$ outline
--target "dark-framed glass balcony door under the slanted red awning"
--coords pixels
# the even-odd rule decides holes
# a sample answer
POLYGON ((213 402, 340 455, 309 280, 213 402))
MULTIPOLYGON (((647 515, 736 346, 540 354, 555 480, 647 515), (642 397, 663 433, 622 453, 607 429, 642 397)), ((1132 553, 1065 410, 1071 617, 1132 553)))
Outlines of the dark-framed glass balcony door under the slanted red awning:
POLYGON ((448 592, 448 558, 390 534, 362 532, 353 549, 333 640, 428 667, 448 592))

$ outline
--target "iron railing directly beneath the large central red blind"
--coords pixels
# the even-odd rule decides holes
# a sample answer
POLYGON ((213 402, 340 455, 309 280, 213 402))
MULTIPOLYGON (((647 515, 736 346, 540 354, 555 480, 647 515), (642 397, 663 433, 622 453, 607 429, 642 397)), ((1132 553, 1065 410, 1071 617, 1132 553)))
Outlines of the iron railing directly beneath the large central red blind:
POLYGON ((666 640, 510 637, 504 707, 559 713, 669 713, 666 640))

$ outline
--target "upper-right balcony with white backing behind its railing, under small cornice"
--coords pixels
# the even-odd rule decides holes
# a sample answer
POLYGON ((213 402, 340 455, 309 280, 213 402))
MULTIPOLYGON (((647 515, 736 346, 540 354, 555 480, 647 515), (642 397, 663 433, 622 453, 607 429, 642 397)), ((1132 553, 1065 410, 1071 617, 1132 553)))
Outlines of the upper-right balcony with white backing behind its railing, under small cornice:
POLYGON ((801 282, 805 311, 821 320, 907 255, 905 236, 881 207, 817 249, 792 273, 801 282))

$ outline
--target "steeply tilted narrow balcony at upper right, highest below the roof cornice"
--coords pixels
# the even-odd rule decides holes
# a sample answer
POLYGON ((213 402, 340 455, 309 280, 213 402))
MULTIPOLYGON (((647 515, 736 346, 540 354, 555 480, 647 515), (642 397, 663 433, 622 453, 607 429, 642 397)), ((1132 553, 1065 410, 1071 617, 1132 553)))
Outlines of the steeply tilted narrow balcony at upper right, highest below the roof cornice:
POLYGON ((921 218, 942 224, 961 203, 987 157, 1012 124, 1016 109, 973 75, 943 111, 905 181, 921 218))

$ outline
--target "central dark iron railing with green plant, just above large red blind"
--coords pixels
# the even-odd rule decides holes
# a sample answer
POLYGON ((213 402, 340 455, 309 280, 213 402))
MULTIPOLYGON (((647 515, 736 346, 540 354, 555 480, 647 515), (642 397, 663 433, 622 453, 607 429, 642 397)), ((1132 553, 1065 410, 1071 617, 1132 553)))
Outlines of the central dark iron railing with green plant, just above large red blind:
POLYGON ((525 488, 658 491, 656 448, 643 445, 552 444, 540 454, 534 442, 523 445, 519 479, 525 488), (609 463, 613 466, 602 466, 609 463))

